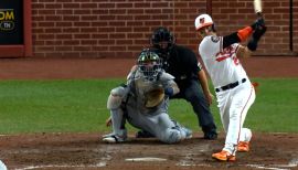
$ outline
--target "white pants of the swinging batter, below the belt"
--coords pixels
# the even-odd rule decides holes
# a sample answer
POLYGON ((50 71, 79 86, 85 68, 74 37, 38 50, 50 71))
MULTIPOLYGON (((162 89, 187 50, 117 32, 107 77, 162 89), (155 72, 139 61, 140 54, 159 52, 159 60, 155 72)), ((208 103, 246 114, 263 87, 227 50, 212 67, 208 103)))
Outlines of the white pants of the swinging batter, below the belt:
POLYGON ((243 128, 246 114, 255 100, 255 89, 249 81, 216 93, 221 120, 226 132, 223 150, 235 155, 240 141, 249 141, 252 131, 243 128))

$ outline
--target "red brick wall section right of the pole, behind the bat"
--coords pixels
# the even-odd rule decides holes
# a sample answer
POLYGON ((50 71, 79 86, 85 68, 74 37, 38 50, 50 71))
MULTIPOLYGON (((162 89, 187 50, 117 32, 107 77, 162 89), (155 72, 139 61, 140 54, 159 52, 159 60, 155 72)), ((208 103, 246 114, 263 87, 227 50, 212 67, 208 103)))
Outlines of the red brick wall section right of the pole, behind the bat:
MULTIPOLYGON (((289 0, 263 0, 263 13, 268 29, 255 54, 291 55, 292 52, 289 45, 289 0)), ((252 0, 213 0, 212 7, 212 14, 217 24, 219 34, 236 31, 256 20, 252 0)), ((294 30, 296 30, 297 34, 297 20, 295 24, 296 29, 294 30)), ((296 52, 298 52, 297 39, 294 42, 296 52)))

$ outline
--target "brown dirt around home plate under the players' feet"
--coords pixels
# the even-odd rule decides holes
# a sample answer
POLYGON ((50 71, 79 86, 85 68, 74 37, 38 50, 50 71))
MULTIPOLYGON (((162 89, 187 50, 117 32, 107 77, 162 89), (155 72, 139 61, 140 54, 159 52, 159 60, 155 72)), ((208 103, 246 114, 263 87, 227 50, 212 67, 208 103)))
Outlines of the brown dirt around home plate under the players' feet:
POLYGON ((201 134, 178 145, 156 139, 136 139, 107 145, 99 134, 43 134, 1 136, 0 158, 9 169, 298 169, 298 135, 255 134, 249 152, 237 153, 236 162, 217 162, 219 140, 204 140, 201 134), (160 158, 162 161, 126 161, 132 158, 160 158))

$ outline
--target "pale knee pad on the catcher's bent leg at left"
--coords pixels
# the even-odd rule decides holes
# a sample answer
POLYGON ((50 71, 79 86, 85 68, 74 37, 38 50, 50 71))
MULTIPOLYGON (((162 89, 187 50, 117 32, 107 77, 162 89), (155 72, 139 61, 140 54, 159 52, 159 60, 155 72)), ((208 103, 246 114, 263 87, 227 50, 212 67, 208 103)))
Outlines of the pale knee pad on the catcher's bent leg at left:
POLYGON ((126 89, 123 86, 116 87, 110 91, 107 100, 107 108, 108 109, 116 109, 121 105, 123 98, 126 95, 126 89))

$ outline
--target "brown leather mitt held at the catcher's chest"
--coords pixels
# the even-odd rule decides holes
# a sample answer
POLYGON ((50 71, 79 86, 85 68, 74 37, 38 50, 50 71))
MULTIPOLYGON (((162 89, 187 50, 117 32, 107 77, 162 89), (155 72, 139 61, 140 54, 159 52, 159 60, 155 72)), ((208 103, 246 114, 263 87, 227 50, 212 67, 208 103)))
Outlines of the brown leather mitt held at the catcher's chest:
POLYGON ((164 98, 163 88, 156 88, 149 91, 145 94, 145 106, 146 107, 156 107, 158 106, 164 98))

